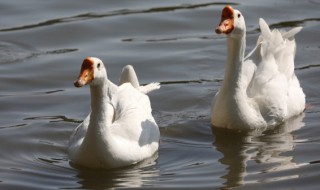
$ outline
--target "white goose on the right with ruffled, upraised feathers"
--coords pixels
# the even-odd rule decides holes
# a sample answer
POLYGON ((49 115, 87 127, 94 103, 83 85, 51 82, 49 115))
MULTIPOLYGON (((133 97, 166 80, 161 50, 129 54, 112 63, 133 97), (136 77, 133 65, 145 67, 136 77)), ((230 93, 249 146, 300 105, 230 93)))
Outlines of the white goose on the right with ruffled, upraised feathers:
POLYGON ((226 6, 216 33, 228 39, 223 84, 212 103, 211 123, 216 127, 254 129, 276 126, 305 109, 305 94, 294 73, 294 35, 271 31, 260 18, 261 35, 244 58, 246 26, 243 15, 226 6))

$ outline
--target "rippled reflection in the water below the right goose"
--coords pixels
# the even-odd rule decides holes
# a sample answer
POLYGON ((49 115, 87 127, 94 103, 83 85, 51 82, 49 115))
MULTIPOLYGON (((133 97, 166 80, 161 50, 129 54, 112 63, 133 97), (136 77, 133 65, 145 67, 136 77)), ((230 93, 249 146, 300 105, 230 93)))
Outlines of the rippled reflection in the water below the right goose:
POLYGON ((279 181, 289 178, 298 178, 298 175, 281 176, 258 180, 246 180, 250 175, 272 173, 299 167, 293 156, 284 155, 295 147, 295 130, 304 126, 304 114, 292 118, 281 126, 264 131, 234 132, 225 129, 213 128, 215 136, 214 146, 223 154, 219 162, 227 166, 227 174, 221 176, 226 180, 224 187, 236 187, 246 183, 279 181), (255 162, 258 166, 250 164, 258 171, 250 171, 248 162, 255 162))

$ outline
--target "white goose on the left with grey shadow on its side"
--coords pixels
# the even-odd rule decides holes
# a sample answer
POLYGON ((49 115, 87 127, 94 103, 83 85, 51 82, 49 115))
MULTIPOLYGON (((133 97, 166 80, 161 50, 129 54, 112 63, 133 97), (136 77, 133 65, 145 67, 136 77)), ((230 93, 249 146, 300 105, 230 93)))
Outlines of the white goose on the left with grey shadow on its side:
POLYGON ((132 66, 124 67, 120 85, 107 78, 102 61, 86 58, 76 87, 90 85, 91 113, 74 130, 68 147, 72 163, 88 168, 118 168, 152 157, 159 146, 159 128, 145 94, 159 83, 140 86, 132 66))

